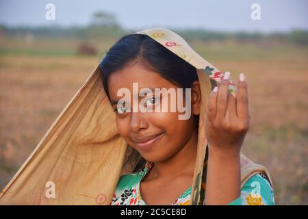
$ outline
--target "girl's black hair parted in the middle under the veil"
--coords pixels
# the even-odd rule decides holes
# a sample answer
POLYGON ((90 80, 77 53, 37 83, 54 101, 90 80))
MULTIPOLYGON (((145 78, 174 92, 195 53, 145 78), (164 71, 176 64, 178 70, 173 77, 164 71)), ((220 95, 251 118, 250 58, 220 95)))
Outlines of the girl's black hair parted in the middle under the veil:
MULTIPOLYGON (((146 70, 158 73, 179 88, 192 88, 192 83, 198 80, 196 68, 181 57, 166 49, 162 44, 144 34, 128 34, 120 38, 106 53, 99 64, 103 89, 110 100, 107 80, 112 73, 122 70, 131 62, 138 62, 146 70)), ((198 116, 196 116, 198 131, 198 116)), ((131 149, 133 151, 133 149, 131 149)), ((144 166, 145 160, 138 159, 135 170, 144 166), (138 165, 139 164, 139 165, 138 165)), ((127 159, 132 159, 127 157, 127 159)))

